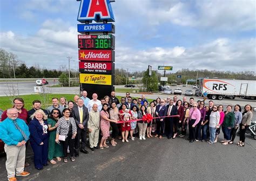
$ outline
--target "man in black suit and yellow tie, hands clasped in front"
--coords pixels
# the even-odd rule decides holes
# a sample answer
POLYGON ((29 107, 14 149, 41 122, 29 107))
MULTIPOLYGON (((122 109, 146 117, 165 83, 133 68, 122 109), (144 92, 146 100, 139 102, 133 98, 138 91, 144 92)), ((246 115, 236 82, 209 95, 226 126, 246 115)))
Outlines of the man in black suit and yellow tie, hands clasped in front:
POLYGON ((87 122, 89 120, 88 109, 84 106, 84 100, 79 98, 77 100, 77 107, 73 107, 72 116, 77 124, 77 135, 75 138, 75 157, 78 157, 78 150, 80 146, 80 138, 82 138, 82 146, 80 151, 84 154, 88 154, 88 151, 85 150, 86 142, 86 131, 87 131, 87 122))

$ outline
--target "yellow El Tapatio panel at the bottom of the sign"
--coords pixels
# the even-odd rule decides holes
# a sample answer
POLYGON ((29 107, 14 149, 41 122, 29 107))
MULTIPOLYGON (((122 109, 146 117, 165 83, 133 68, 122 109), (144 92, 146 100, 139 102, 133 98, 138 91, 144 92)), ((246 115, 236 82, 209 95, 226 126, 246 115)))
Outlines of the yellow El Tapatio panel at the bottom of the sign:
POLYGON ((109 85, 109 86, 111 86, 112 75, 80 73, 80 83, 89 83, 89 84, 109 85))

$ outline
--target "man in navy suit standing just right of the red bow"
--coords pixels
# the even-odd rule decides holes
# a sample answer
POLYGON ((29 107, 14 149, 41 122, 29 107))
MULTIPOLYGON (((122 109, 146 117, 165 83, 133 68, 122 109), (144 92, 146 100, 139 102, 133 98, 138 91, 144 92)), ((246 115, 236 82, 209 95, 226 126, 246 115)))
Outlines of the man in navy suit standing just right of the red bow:
POLYGON ((164 131, 164 123, 165 123, 165 117, 161 116, 166 116, 167 114, 167 108, 164 105, 164 100, 160 100, 160 105, 157 106, 156 108, 156 115, 159 117, 156 120, 157 123, 157 134, 154 137, 158 137, 159 139, 163 138, 163 131, 164 131))

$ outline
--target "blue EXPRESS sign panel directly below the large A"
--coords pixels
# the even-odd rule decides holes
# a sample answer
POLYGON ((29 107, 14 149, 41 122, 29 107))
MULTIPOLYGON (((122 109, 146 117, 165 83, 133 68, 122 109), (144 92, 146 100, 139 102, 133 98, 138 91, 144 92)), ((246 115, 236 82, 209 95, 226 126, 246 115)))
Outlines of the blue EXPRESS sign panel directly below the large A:
POLYGON ((103 33, 109 32, 114 33, 114 25, 112 23, 96 23, 96 24, 78 24, 77 31, 79 33, 90 32, 90 33, 103 33))

